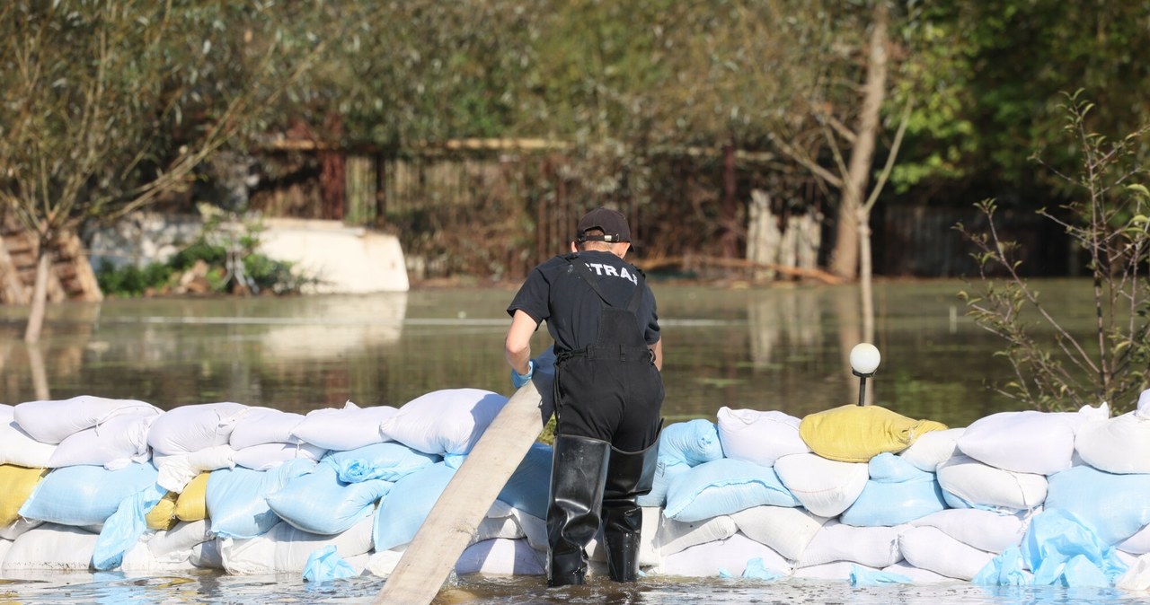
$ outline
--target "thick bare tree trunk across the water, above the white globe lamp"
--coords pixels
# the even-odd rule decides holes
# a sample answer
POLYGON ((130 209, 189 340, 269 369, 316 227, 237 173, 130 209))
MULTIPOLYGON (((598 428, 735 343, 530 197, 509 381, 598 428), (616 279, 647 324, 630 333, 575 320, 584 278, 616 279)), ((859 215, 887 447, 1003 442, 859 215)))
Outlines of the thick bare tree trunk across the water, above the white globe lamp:
POLYGON ((843 181, 835 249, 830 259, 830 272, 845 279, 854 279, 858 274, 859 224, 869 218, 869 212, 860 210, 871 178, 879 113, 887 96, 887 3, 879 0, 875 2, 874 25, 871 30, 862 109, 859 111, 854 146, 851 147, 851 158, 843 181))

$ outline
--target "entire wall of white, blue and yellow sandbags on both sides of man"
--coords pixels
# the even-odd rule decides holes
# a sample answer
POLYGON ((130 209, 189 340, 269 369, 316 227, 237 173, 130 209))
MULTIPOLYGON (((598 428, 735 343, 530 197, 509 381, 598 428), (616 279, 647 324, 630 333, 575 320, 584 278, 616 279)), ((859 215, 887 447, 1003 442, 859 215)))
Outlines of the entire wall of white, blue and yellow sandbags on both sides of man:
MULTIPOLYGON (((1150 400, 1150 397, 1145 397, 1150 400)), ((76 397, 0 406, 0 574, 386 575, 506 397, 293 414, 76 397)), ((543 574, 536 444, 458 573, 543 574)), ((965 428, 848 405, 667 426, 641 499, 649 575, 1150 587, 1150 403, 965 428)), ((592 573, 603 552, 591 546, 592 573)))

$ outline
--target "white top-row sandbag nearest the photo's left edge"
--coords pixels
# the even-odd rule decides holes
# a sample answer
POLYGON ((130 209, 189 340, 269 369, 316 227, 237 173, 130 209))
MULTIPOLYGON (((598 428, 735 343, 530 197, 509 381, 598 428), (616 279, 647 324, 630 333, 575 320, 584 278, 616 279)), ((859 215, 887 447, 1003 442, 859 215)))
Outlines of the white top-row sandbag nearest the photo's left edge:
POLYGON ((13 419, 32 439, 43 443, 60 443, 68 435, 101 425, 123 416, 156 416, 162 411, 136 400, 109 400, 78 395, 70 400, 46 400, 17 404, 13 419))

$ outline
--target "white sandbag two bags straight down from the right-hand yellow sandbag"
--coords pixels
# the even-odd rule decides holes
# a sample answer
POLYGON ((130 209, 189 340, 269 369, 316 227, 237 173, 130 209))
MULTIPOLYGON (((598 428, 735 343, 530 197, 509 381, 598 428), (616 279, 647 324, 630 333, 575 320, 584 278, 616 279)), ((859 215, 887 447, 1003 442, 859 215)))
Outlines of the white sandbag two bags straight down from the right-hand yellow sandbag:
POLYGON ((907 527, 854 527, 830 519, 811 538, 796 566, 834 561, 853 561, 867 567, 894 565, 903 560, 898 535, 907 527))

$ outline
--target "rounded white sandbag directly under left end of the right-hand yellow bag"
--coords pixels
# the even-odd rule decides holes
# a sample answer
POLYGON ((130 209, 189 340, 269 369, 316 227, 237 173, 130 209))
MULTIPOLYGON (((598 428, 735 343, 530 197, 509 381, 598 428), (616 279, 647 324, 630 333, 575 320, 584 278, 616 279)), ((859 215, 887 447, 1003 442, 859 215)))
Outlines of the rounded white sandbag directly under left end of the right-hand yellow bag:
POLYGON ((842 463, 816 453, 780 457, 774 468, 803 507, 819 517, 837 517, 849 509, 871 478, 866 463, 842 463))

